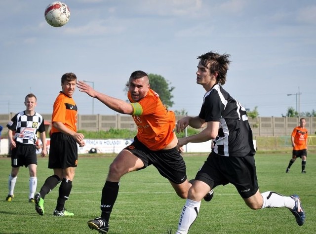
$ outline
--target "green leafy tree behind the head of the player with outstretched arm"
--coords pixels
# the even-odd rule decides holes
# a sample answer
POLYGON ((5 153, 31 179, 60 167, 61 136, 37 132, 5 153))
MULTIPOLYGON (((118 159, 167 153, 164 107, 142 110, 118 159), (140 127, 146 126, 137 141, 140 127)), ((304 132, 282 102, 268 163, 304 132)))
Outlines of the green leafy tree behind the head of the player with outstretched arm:
MULTIPOLYGON (((150 88, 158 93, 163 105, 165 105, 166 108, 172 107, 174 102, 171 101, 171 99, 173 98, 171 92, 175 87, 169 86, 171 83, 160 75, 148 74, 148 78, 150 88)), ((128 81, 126 82, 126 84, 128 84, 128 81)), ((125 87, 124 91, 125 93, 127 93, 128 87, 125 87)))

